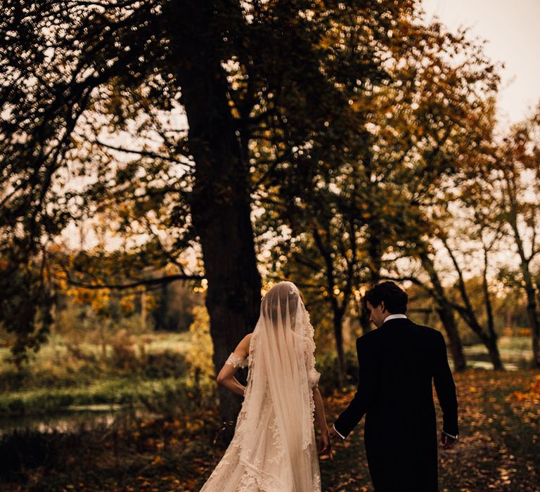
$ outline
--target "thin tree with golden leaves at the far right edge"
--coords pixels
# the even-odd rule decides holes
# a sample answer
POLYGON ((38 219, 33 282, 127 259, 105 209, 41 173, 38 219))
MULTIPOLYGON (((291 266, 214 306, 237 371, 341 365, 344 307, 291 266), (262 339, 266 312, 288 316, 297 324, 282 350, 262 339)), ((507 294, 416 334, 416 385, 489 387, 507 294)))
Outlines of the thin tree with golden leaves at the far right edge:
MULTIPOLYGON (((491 127, 494 127, 493 115, 488 114, 487 117, 491 118, 491 127)), ((513 125, 502 141, 486 139, 484 156, 471 160, 461 182, 461 202, 473 210, 477 224, 482 226, 482 233, 503 241, 502 247, 506 251, 513 249, 518 257, 518 276, 513 268, 504 266, 497 277, 509 285, 517 281, 525 292, 534 367, 539 367, 540 363, 539 289, 534 264, 540 253, 537 245, 539 129, 540 106, 531 117, 513 125)), ((483 249, 485 262, 489 248, 484 244, 483 249)), ((487 282, 484 281, 484 285, 487 286, 487 282)))

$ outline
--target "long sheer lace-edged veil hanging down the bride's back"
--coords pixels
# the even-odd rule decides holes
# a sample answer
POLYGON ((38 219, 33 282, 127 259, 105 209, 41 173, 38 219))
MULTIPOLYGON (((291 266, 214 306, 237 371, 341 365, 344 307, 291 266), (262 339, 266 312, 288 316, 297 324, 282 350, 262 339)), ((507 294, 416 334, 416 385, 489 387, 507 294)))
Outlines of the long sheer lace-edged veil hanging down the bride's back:
POLYGON ((314 349, 314 330, 297 287, 286 281, 274 285, 262 299, 252 334, 234 438, 240 462, 264 491, 320 491, 314 349))

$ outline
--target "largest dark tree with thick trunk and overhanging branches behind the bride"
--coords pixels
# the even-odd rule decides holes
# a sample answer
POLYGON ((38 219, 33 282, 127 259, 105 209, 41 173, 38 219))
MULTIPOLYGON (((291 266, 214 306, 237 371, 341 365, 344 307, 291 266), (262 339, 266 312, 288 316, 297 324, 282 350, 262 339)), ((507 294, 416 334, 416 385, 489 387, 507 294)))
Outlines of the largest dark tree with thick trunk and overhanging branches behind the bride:
MULTIPOLYGON (((383 37, 402 8, 373 0, 349 11, 359 7, 380 21, 383 37)), ((285 157, 300 155, 323 134, 333 108, 347 103, 324 72, 333 48, 321 44, 342 10, 309 1, 6 1, 2 282, 14 273, 25 278, 21 299, 32 309, 23 317, 23 303, 13 309, 7 290, 0 301, 2 321, 20 335, 20 354, 42 339, 35 323, 47 308, 39 297, 46 246, 68 224, 96 214, 114 216, 108 224, 124 233, 147 226, 151 246, 130 245, 131 252, 150 251, 146 258, 161 267, 176 261, 175 279, 205 276, 219 368, 259 311, 251 187, 275 179, 285 157), (179 129, 183 112, 188 128, 179 129), (122 133, 139 140, 118 143, 122 133), (270 141, 269 155, 252 155, 256 139, 270 141), (81 186, 71 186, 73 174, 81 186), (168 247, 162 227, 173 228, 168 247), (200 248, 204 271, 182 271, 184 247, 200 248)), ((370 50, 362 61, 377 71, 370 50)), ((94 285, 125 287, 109 280, 94 285)), ((46 316, 40 321, 43 334, 46 316)), ((238 399, 220 396, 221 415, 233 420, 238 399)))

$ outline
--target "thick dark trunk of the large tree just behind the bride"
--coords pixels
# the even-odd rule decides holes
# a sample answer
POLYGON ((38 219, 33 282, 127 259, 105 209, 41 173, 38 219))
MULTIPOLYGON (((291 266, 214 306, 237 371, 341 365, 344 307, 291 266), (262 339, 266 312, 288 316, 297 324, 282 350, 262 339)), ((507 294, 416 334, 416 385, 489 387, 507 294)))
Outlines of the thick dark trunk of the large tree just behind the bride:
MULTIPOLYGON (((174 5, 175 14, 185 14, 184 2, 174 5)), ((171 32, 177 36, 172 44, 179 53, 181 103, 189 123, 189 150, 195 160, 190 205, 203 251, 208 281, 205 304, 218 373, 240 339, 255 328, 261 278, 250 219, 249 168, 227 99, 217 15, 211 1, 200 0, 188 10, 193 29, 175 27, 171 32)), ((173 16, 172 21, 175 19, 173 16)), ((218 394, 222 419, 236 422, 242 399, 221 386, 218 394)), ((231 429, 226 437, 231 436, 231 429)))

